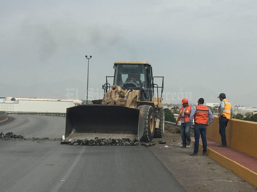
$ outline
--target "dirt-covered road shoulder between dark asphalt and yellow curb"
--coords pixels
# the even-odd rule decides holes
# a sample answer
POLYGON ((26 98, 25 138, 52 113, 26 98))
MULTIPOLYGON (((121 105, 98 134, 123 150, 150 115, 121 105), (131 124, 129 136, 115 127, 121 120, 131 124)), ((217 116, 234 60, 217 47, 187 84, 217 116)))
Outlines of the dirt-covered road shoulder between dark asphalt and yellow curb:
MULTIPOLYGON (((166 130, 165 130, 166 131, 166 130)), ((232 171, 221 166, 208 156, 190 156, 193 148, 181 148, 181 136, 174 129, 166 131, 165 137, 160 139, 166 144, 158 144, 150 150, 167 167, 187 192, 217 192, 242 191, 256 192, 257 188, 247 183, 232 171), (168 147, 164 147, 167 145, 168 147)), ((208 145, 208 144, 207 144, 208 145)))

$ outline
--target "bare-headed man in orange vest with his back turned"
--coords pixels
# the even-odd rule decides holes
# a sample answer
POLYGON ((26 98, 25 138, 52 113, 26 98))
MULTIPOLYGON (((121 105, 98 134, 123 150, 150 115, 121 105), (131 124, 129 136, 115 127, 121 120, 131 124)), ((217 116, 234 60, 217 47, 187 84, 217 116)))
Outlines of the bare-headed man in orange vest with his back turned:
POLYGON ((211 110, 204 105, 204 99, 200 98, 197 101, 198 105, 194 107, 190 114, 190 124, 193 125, 194 121, 194 152, 190 154, 191 156, 198 155, 199 139, 200 134, 203 143, 203 155, 206 156, 207 152, 207 140, 206 140, 206 127, 212 123, 214 117, 211 110))

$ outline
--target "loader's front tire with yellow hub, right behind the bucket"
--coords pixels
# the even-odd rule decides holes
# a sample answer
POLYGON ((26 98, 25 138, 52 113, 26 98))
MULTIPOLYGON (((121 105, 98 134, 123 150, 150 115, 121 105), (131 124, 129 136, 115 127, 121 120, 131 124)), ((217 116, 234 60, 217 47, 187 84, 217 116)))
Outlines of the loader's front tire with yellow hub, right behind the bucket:
POLYGON ((155 130, 154 109, 150 105, 140 105, 138 106, 138 109, 143 110, 143 118, 144 118, 144 132, 140 141, 150 142, 154 138, 154 130, 155 130))

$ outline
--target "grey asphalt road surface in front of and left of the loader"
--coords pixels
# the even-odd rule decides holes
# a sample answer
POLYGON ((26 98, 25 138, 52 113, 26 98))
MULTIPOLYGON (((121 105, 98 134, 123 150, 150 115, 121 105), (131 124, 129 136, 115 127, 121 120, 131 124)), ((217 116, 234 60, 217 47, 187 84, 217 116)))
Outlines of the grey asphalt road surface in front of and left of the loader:
MULTIPOLYGON (((60 138, 65 117, 13 115, 0 132, 60 138)), ((0 191, 184 191, 143 146, 73 146, 0 140, 0 191)))

